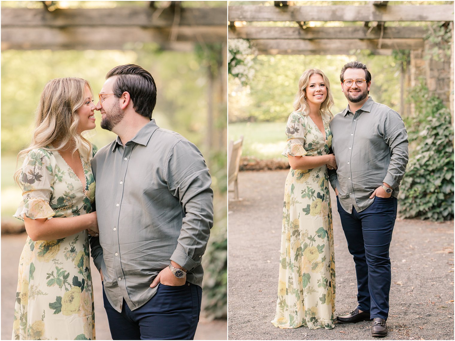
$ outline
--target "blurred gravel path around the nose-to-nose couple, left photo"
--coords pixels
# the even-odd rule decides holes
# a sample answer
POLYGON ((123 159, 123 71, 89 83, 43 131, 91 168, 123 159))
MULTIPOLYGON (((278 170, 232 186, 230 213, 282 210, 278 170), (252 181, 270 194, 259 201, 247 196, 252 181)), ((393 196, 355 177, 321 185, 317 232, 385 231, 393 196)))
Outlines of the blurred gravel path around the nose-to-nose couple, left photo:
MULTIPOLYGON (((13 331, 13 315, 17 286, 17 269, 20 253, 25 244, 27 234, 3 234, 1 236, 1 340, 11 340, 13 331)), ((91 269, 96 267, 91 260, 91 269)), ((112 340, 107 323, 106 311, 103 307, 101 279, 93 274, 93 290, 95 299, 95 327, 97 340, 112 340)), ((202 296, 203 299, 203 296, 202 296)), ((195 340, 226 340, 227 321, 207 321, 201 318, 197 325, 195 340)))

